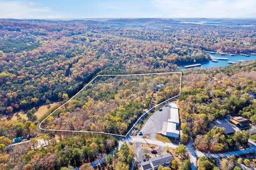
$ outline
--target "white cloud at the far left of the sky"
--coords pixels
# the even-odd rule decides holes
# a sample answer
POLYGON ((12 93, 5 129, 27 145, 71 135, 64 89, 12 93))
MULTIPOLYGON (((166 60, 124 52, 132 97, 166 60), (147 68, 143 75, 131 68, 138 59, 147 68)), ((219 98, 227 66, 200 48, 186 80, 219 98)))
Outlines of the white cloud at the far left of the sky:
POLYGON ((35 2, 0 1, 0 18, 16 19, 52 19, 60 18, 58 12, 35 2))

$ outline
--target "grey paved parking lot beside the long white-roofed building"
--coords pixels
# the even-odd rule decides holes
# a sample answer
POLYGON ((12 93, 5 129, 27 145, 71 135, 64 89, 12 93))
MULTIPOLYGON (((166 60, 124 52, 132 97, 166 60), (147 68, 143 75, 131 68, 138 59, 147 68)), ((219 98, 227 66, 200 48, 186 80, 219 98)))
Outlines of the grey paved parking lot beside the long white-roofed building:
POLYGON ((161 132, 163 123, 170 119, 170 107, 162 107, 162 111, 156 111, 140 130, 143 134, 153 134, 161 132))

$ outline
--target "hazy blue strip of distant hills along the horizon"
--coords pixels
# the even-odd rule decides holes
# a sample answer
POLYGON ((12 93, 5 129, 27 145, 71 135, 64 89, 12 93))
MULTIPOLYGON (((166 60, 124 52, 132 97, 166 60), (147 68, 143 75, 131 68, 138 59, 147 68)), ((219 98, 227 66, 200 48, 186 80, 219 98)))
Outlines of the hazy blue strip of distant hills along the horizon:
POLYGON ((122 18, 122 19, 110 19, 106 21, 94 20, 18 20, 18 19, 0 19, 4 22, 22 22, 30 24, 95 24, 106 26, 122 26, 122 27, 145 27, 145 26, 171 26, 182 22, 193 22, 198 24, 218 24, 223 26, 256 26, 256 19, 232 19, 232 18, 176 18, 173 19, 160 19, 160 18, 122 18))

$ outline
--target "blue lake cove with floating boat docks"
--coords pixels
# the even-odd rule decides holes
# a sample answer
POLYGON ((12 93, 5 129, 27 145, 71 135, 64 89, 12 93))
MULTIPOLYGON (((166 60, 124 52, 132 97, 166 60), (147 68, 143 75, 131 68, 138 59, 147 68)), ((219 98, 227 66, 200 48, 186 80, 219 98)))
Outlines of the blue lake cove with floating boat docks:
MULTIPOLYGON (((217 60, 217 57, 228 58, 228 60, 218 60, 217 63, 210 61, 208 63, 202 64, 202 66, 200 66, 200 67, 194 67, 194 69, 200 69, 201 67, 203 67, 203 68, 212 68, 212 67, 219 67, 219 66, 222 67, 222 66, 230 65, 228 63, 228 61, 234 61, 237 63, 237 61, 239 61, 239 60, 249 61, 249 60, 256 59, 256 55, 251 55, 250 57, 245 57, 242 55, 231 56, 231 55, 210 54, 208 52, 206 52, 206 53, 209 54, 210 56, 214 57, 216 60, 217 60)), ((192 64, 196 64, 196 63, 192 63, 192 64)), ((178 70, 185 71, 186 68, 181 67, 178 70)))

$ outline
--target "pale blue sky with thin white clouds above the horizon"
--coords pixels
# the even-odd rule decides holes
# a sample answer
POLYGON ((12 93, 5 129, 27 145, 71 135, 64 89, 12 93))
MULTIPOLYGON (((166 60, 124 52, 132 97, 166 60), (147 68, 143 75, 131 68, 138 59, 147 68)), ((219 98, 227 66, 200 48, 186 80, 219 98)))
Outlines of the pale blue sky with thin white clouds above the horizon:
POLYGON ((0 0, 0 18, 256 18, 256 0, 0 0))

